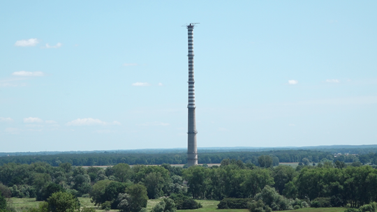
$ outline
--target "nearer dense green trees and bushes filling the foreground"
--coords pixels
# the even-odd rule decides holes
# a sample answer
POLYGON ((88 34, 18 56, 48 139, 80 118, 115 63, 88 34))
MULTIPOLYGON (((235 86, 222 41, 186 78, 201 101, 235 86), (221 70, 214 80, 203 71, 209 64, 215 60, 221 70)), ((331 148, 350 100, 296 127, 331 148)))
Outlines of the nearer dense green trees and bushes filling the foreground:
MULTIPOLYGON (((334 156, 330 158, 323 152, 294 152, 295 157, 286 151, 271 151, 258 157, 238 153, 239 158, 244 156, 242 160, 226 158, 219 166, 189 168, 166 163, 154 166, 119 163, 104 169, 69 162, 59 162, 56 167, 47 162, 9 162, 0 166, 0 211, 1 197, 36 197, 45 201, 39 209, 29 212, 54 211, 61 199, 69 199, 73 211, 80 210, 76 197, 90 197, 103 209, 124 212, 145 211, 147 199, 160 197, 165 198, 154 212, 198 209, 201 205, 195 199, 217 199, 221 201, 219 209, 248 208, 251 212, 309 206, 348 206, 362 211, 376 206, 377 169, 362 165, 360 158, 365 158, 352 156, 352 161, 346 164, 344 161, 351 156, 337 156, 334 160, 334 156), (244 162, 246 156, 250 158, 244 162), (295 161, 301 158, 300 165, 274 166, 279 156, 295 161)), ((220 155, 226 154, 232 156, 232 153, 220 155)), ((364 163, 374 161, 374 153, 364 156, 368 158, 364 163)))

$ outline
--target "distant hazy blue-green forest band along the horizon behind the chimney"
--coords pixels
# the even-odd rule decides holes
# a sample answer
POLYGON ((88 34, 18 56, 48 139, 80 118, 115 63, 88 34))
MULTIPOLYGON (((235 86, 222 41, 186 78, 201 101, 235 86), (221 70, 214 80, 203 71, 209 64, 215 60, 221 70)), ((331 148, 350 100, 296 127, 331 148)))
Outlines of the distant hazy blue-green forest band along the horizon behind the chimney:
MULTIPOLYGON (((279 162, 302 162, 307 158, 309 162, 320 162, 321 160, 334 160, 334 154, 326 151, 313 150, 277 150, 277 151, 258 151, 258 152, 216 152, 216 153, 199 153, 198 162, 200 164, 220 163, 226 158, 242 160, 242 162, 251 162, 258 164, 258 157, 269 155, 274 160, 274 165, 279 162)), ((362 163, 371 162, 377 164, 376 153, 366 153, 360 155, 348 154, 337 156, 337 160, 342 162, 362 163)), ((186 153, 81 153, 81 154, 56 154, 56 155, 34 155, 34 156, 3 156, 0 157, 0 165, 9 162, 31 164, 34 162, 47 162, 54 167, 61 163, 71 163, 75 166, 105 166, 126 163, 128 165, 161 165, 168 164, 186 164, 186 153)))

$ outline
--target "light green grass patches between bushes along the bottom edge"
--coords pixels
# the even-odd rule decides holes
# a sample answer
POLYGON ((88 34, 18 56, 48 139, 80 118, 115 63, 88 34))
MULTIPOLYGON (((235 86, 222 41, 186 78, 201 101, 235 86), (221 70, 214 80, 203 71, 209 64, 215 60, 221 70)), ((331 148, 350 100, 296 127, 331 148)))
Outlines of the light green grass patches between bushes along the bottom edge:
MULTIPOLYGON (((94 206, 93 203, 90 202, 89 197, 79 197, 81 206, 86 206, 90 208, 95 208, 96 211, 104 211, 100 209, 99 207, 94 206)), ((158 204, 158 202, 162 201, 161 199, 149 199, 147 204, 147 210, 151 211, 151 209, 158 204)), ((217 212, 249 212, 247 209, 217 209, 217 204, 219 204, 219 201, 216 200, 197 200, 202 204, 201 209, 196 210, 179 210, 180 212, 194 212, 194 211, 217 211, 217 212)), ((10 198, 10 202, 13 205, 13 207, 16 209, 16 211, 23 211, 24 209, 28 208, 34 208, 38 206, 39 202, 36 202, 35 198, 10 198)), ((112 211, 118 211, 118 210, 112 210, 112 211)), ((308 208, 308 209, 298 209, 293 211, 285 211, 285 212, 343 212, 345 209, 343 208, 308 208)))

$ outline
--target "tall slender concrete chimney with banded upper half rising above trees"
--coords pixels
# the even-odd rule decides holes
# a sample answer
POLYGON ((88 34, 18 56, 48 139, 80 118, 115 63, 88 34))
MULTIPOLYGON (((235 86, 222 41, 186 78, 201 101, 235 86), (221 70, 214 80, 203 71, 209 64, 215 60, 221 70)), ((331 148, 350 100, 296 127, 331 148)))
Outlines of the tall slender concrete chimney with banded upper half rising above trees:
POLYGON ((193 75, 193 28, 196 23, 188 24, 188 138, 187 165, 198 165, 198 151, 196 149, 196 121, 195 121, 195 81, 193 75))

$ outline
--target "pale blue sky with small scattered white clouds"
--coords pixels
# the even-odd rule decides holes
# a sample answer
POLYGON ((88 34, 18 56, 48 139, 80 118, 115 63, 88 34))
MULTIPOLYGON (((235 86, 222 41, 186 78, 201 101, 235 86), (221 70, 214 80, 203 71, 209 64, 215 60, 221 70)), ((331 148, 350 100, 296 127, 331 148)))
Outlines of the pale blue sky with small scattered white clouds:
POLYGON ((376 1, 7 1, 0 151, 377 142, 376 1))

